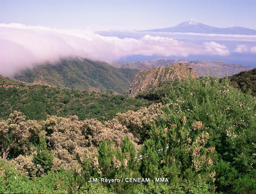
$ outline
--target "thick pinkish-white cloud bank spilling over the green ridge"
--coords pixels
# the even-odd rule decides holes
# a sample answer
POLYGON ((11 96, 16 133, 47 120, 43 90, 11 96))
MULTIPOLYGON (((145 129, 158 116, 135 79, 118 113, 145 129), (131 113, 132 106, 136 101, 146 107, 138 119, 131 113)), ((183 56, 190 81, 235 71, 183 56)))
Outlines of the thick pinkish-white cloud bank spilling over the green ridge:
POLYGON ((22 24, 0 24, 0 74, 12 76, 23 67, 32 67, 59 58, 82 57, 112 62, 129 55, 229 55, 225 45, 181 42, 172 38, 145 35, 140 39, 95 34, 92 30, 66 30, 22 24))

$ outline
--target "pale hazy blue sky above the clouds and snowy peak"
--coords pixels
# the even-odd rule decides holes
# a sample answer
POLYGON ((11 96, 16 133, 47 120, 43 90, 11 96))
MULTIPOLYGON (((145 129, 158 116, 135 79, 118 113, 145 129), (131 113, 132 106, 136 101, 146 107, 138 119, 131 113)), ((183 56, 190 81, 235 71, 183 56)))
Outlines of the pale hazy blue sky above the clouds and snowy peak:
POLYGON ((196 19, 215 27, 256 28, 255 0, 0 0, 0 23, 51 28, 152 29, 196 19))

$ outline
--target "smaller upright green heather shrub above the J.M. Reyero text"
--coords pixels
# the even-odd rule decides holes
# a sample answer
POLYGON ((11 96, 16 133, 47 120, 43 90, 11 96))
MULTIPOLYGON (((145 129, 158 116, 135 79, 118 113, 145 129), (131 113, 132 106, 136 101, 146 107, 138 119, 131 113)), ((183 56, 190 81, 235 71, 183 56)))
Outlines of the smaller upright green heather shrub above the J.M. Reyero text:
MULTIPOLYGON (((138 160, 135 157, 136 150, 127 137, 124 138, 121 149, 115 149, 112 142, 103 140, 97 155, 92 156, 91 159, 85 159, 81 164, 81 175, 77 175, 79 185, 82 188, 88 186, 91 188, 92 185, 87 183, 90 178, 98 178, 98 182, 103 177, 106 179, 140 178, 138 160)), ((131 182, 102 184, 117 193, 132 193, 136 188, 136 183, 131 182)))

